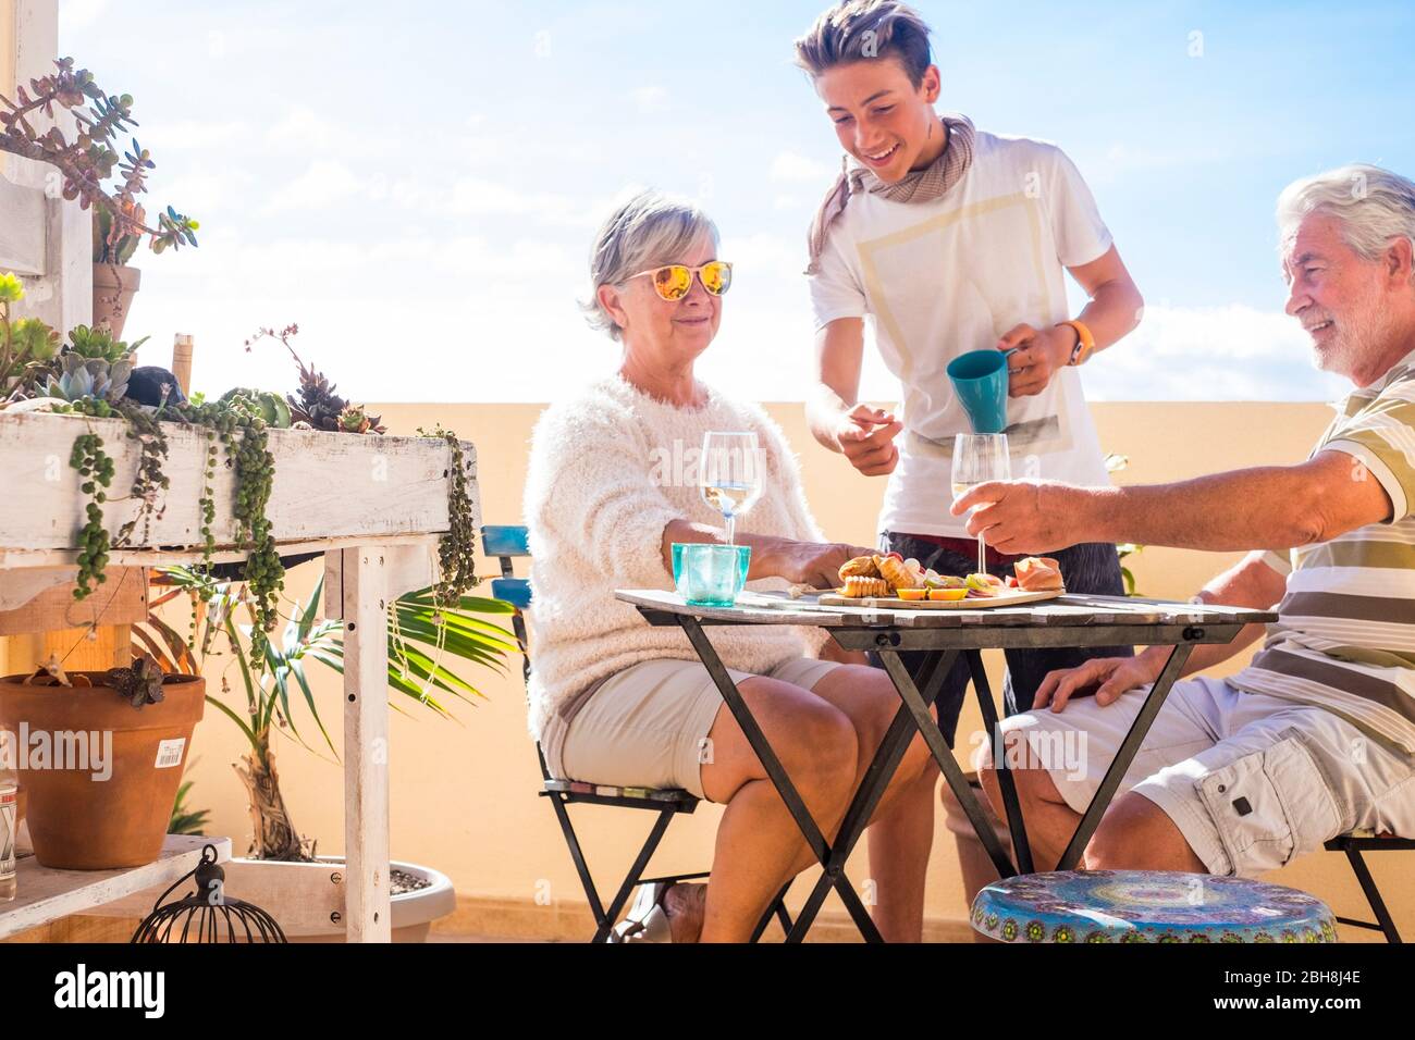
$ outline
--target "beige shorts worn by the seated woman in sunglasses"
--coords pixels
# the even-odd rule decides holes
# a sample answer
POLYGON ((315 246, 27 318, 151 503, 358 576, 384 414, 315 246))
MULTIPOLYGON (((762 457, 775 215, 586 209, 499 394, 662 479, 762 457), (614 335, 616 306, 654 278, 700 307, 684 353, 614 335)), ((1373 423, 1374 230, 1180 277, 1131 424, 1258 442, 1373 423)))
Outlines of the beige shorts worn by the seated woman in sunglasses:
MULTIPOLYGON (((814 689, 833 661, 792 658, 763 672, 814 689)), ((751 672, 727 669, 733 682, 751 672)), ((705 798, 702 764, 722 693, 698 661, 644 661, 573 698, 541 736, 546 767, 558 780, 613 787, 679 787, 705 798), (570 717, 563 717, 569 715, 570 717)))

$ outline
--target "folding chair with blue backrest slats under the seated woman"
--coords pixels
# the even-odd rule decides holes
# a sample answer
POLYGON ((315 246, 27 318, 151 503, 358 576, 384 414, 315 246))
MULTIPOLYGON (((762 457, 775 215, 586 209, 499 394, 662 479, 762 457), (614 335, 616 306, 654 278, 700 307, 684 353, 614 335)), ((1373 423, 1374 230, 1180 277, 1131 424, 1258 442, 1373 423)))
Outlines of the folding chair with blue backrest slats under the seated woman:
MULTIPOLYGON (((491 596, 492 599, 509 603, 516 608, 511 618, 511 624, 515 630, 516 641, 521 644, 524 655, 522 675, 526 681, 529 681, 531 648, 526 640, 525 611, 531 607, 531 582, 524 577, 516 577, 514 569, 515 559, 529 559, 531 556, 526 528, 484 526, 481 529, 481 543, 487 556, 494 556, 501 562, 501 577, 492 579, 491 596)), ((659 877, 642 876, 644 870, 648 869, 649 859, 652 859, 654 852, 658 849, 658 843, 664 839, 664 833, 668 831, 668 825, 672 822, 674 816, 689 815, 698 808, 699 799, 695 795, 681 788, 655 790, 647 787, 608 787, 604 784, 586 784, 577 780, 558 780, 550 775, 550 771, 545 764, 545 753, 541 750, 539 743, 536 743, 536 758, 541 763, 541 797, 549 799, 550 807, 555 809, 555 816, 560 824, 560 832, 565 835, 565 843, 570 850, 570 859, 574 860, 574 870, 580 877, 580 884, 584 887, 584 896, 590 901, 590 913, 594 914, 596 928, 594 937, 590 940, 591 942, 603 942, 608 938, 610 931, 614 928, 616 921, 618 921, 618 917, 624 911, 624 907, 637 884, 651 884, 655 882, 691 882, 708 877, 708 872, 693 874, 664 874, 659 877), (610 805, 620 809, 641 809, 657 814, 654 826, 648 833, 648 839, 634 857, 634 863, 630 866, 628 873, 614 891, 614 896, 607 907, 604 906, 599 889, 594 884, 594 877, 590 874, 590 867, 584 859, 584 850, 580 846, 580 839, 574 833, 574 826, 570 822, 570 805, 610 805)), ((767 913, 761 915, 761 920, 757 923, 757 928, 751 937, 753 942, 761 938, 773 917, 780 921, 781 928, 785 932, 791 931, 791 915, 785 908, 787 889, 790 889, 790 883, 784 886, 780 893, 777 893, 775 901, 767 908, 767 913)))

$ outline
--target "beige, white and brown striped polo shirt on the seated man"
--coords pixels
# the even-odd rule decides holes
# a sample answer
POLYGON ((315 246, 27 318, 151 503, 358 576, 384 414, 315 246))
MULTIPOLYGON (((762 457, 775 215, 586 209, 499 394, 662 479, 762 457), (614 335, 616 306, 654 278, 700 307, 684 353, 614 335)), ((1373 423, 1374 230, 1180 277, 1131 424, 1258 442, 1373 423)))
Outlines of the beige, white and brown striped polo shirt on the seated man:
POLYGON ((1278 621, 1228 682, 1319 705, 1415 756, 1415 352, 1343 402, 1313 456, 1324 450, 1381 483, 1391 519, 1268 553, 1288 577, 1278 621))

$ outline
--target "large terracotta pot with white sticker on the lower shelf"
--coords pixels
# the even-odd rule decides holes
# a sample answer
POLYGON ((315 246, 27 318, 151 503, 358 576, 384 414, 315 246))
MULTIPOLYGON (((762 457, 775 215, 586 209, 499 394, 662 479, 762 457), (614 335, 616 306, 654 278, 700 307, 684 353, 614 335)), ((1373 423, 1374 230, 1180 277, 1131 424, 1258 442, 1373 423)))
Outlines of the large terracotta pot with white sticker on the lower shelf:
POLYGON ((207 683, 168 675, 164 699, 136 709, 103 685, 103 672, 71 678, 78 675, 93 685, 0 679, 0 727, 14 734, 34 857, 67 870, 151 863, 167 836, 207 683), (50 754, 40 758, 44 744, 50 754))

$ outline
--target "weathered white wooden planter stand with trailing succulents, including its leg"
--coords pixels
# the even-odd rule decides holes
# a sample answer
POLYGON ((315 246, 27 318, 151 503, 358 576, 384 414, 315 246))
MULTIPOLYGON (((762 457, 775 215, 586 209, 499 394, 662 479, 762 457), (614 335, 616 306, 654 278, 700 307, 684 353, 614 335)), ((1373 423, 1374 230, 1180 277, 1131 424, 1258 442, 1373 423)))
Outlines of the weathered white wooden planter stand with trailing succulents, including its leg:
MULTIPOLYGON (((0 610, 21 607, 47 589, 74 580, 88 497, 79 490, 82 478, 69 466, 69 456, 75 437, 88 429, 103 439, 115 463, 110 498, 103 505, 103 525, 115 533, 139 509, 139 502, 125 501, 140 456, 139 443, 127 437, 126 422, 0 412, 0 610)), ((171 487, 160 499, 163 516, 153 516, 146 539, 139 524, 133 545, 112 550, 113 567, 201 559, 205 430, 178 423, 166 429, 170 450, 163 473, 171 487)), ((325 616, 342 618, 345 627, 347 934, 351 941, 388 941, 393 924, 388 894, 388 756, 372 753, 388 743, 386 604, 433 580, 437 542, 449 526, 453 451, 436 439, 304 430, 272 430, 269 449, 275 485, 266 512, 279 550, 286 556, 325 555, 325 616)), ((463 456, 480 529, 475 449, 464 441, 463 456)), ((215 559, 245 559, 231 516, 236 477, 219 441, 212 490, 215 559)), ((82 876, 74 883, 75 889, 85 884, 82 876)), ((62 907, 75 913, 82 903, 88 899, 69 899, 62 907)), ((4 918, 0 904, 0 931, 4 918)), ((25 927, 37 923, 27 920, 25 927)))

